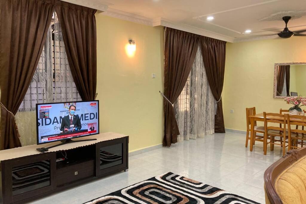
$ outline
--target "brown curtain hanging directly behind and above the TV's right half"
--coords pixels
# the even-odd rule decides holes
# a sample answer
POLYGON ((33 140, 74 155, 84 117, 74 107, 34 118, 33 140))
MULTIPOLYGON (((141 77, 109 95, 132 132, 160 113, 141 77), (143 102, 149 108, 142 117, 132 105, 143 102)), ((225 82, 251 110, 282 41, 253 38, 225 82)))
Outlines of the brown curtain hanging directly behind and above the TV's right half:
POLYGON ((83 100, 94 100, 97 86, 97 10, 58 0, 55 4, 76 88, 83 100))

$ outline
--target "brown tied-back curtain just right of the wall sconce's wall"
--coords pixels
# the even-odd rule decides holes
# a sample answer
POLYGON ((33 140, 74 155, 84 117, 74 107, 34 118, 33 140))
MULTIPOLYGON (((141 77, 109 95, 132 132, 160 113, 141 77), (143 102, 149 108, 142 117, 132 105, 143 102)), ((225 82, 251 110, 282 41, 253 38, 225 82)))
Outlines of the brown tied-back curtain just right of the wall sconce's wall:
MULTIPOLYGON (((172 28, 165 30, 165 79, 164 95, 173 104, 181 94, 199 45, 199 35, 172 28)), ((164 99, 165 132, 163 146, 177 143, 180 134, 175 119, 174 108, 164 99)))

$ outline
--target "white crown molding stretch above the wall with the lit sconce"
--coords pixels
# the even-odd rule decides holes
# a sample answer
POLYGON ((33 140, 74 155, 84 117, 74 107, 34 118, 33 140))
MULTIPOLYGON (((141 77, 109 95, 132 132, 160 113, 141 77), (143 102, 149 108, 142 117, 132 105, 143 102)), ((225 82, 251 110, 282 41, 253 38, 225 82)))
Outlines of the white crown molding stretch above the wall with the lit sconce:
POLYGON ((150 18, 146 18, 143 16, 135 15, 132 13, 127 13, 123 11, 119 11, 116 9, 107 9, 107 11, 103 12, 103 15, 114 17, 114 18, 119 18, 122 20, 127 20, 127 21, 132 21, 134 23, 140 23, 144 25, 149 25, 153 26, 153 20, 150 18))

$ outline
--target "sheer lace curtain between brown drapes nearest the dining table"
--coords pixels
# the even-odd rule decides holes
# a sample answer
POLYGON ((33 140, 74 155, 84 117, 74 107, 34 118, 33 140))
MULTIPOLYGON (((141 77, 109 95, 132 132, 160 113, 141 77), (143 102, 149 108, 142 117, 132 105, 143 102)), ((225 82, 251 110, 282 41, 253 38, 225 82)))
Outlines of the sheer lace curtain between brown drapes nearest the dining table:
POLYGON ((178 141, 203 138, 215 132, 215 98, 211 93, 200 46, 186 85, 174 103, 180 130, 178 141))

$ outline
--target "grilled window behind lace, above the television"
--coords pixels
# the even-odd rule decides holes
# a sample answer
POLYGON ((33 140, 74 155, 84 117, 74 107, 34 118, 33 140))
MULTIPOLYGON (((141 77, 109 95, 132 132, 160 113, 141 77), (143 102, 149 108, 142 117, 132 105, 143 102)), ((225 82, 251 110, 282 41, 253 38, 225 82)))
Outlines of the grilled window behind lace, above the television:
POLYGON ((54 12, 46 43, 19 111, 33 111, 36 103, 81 100, 70 71, 61 26, 54 12))

